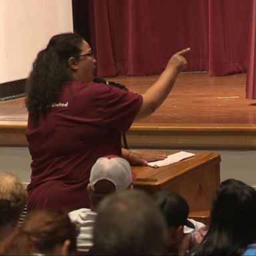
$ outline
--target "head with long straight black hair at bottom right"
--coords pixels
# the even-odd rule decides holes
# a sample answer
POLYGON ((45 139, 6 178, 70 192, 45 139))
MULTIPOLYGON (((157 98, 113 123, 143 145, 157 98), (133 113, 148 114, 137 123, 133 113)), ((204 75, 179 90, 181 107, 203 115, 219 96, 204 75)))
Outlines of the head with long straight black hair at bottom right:
POLYGON ((241 255, 256 242, 256 191, 227 179, 215 191, 209 230, 196 255, 241 255))

